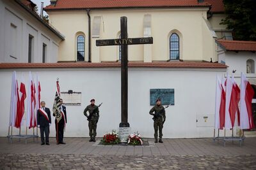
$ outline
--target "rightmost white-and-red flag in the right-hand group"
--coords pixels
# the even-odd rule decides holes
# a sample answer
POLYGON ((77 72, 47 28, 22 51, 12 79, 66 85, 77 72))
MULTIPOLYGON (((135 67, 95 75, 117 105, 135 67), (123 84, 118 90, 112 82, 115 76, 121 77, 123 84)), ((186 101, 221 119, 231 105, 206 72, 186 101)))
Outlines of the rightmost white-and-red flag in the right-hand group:
POLYGON ((240 128, 241 129, 253 129, 255 128, 252 115, 252 99, 254 96, 254 90, 244 76, 241 73, 241 113, 240 113, 240 128))

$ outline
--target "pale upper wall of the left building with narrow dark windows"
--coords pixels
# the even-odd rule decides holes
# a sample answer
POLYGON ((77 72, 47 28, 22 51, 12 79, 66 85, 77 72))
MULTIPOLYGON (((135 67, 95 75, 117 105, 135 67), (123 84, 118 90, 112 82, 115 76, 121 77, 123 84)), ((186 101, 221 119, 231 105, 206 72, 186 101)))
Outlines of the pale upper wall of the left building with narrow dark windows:
POLYGON ((29 34, 34 37, 32 62, 42 62, 43 43, 47 45, 45 62, 56 62, 61 39, 19 4, 1 0, 0 62, 28 62, 29 34))

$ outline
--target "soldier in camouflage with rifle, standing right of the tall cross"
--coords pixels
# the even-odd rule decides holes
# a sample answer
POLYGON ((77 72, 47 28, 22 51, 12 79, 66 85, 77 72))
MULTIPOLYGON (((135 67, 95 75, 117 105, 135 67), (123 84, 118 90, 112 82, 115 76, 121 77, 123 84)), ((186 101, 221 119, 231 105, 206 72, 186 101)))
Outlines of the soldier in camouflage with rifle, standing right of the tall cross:
POLYGON ((157 143, 157 132, 159 129, 159 143, 163 143, 162 136, 163 136, 163 122, 165 121, 165 110, 161 104, 161 99, 156 100, 156 106, 154 106, 150 111, 150 115, 153 115, 154 118, 154 129, 155 129, 155 143, 157 143), (155 112, 155 113, 154 113, 155 112))

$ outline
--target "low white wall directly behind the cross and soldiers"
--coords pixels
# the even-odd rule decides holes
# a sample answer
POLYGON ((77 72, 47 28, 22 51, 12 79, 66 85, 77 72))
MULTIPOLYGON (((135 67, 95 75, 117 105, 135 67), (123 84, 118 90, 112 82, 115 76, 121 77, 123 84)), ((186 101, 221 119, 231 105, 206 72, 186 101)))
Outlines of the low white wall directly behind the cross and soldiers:
MULTIPOLYGON (((28 69, 17 69, 17 78, 22 75, 28 81, 28 69)), ((52 110, 56 90, 56 78, 60 78, 61 92, 74 90, 82 92, 82 106, 67 106, 68 124, 65 136, 88 136, 88 122, 83 115, 90 99, 103 103, 100 107, 98 136, 118 129, 120 123, 120 69, 33 69, 38 73, 42 87, 42 100, 52 110)), ((132 132, 140 132, 144 137, 154 137, 152 116, 148 114, 150 106, 150 89, 175 89, 175 106, 166 110, 164 138, 200 138, 212 137, 214 120, 209 120, 209 127, 196 127, 197 115, 214 114, 216 74, 225 70, 216 69, 129 69, 129 124, 132 132)), ((10 112, 10 94, 12 70, 0 71, 0 136, 8 134, 10 112)), ((28 90, 28 87, 27 87, 28 90)), ((27 91, 28 92, 28 91, 27 91)), ((27 107, 26 107, 27 110, 27 107)), ((26 119, 26 117, 24 117, 26 119)), ((52 117, 54 119, 54 117, 52 117)), ((204 122, 203 122, 204 123, 204 122)), ((200 122, 202 125, 202 122, 200 122)), ((26 127, 22 127, 22 132, 26 127)), ((18 132, 15 130, 15 132, 18 132)), ((29 131, 30 133, 32 131, 29 131)), ((54 125, 51 136, 55 136, 54 125)))

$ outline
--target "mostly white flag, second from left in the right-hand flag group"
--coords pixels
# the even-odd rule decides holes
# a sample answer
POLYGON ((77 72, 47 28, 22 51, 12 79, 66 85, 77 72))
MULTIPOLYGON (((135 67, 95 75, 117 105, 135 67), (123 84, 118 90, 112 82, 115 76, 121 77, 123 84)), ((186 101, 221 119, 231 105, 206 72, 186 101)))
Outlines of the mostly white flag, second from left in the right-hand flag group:
POLYGON ((232 80, 230 76, 227 74, 226 79, 226 101, 225 101, 225 129, 232 129, 232 121, 231 121, 231 113, 230 113, 230 101, 231 101, 231 94, 232 94, 232 80))

